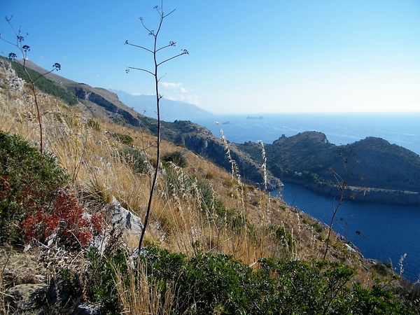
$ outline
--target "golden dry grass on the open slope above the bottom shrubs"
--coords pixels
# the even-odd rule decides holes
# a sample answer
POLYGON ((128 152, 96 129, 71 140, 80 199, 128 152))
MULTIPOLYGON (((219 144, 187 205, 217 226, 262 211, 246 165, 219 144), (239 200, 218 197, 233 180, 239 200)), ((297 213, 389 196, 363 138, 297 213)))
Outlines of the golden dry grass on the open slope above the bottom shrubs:
MULTIPOLYGON (((39 133, 34 106, 22 106, 25 102, 15 97, 15 94, 6 95, 6 102, 3 101, 1 129, 20 134, 35 144, 39 133), (16 116, 15 120, 10 119, 13 116, 16 116)), ((97 120, 100 130, 94 130, 87 126, 87 117, 76 107, 69 108, 48 95, 41 97, 41 109, 45 148, 67 169, 74 188, 99 193, 105 202, 115 196, 125 207, 143 218, 150 193, 151 175, 135 174, 130 161, 119 158, 118 150, 123 148, 123 144, 113 139, 111 134, 118 132, 130 135, 134 139, 134 146, 144 150, 151 159, 155 157, 155 137, 104 120, 97 120)), ((162 141, 161 148, 164 154, 180 150, 166 141, 162 141)), ((148 244, 188 255, 193 254, 197 244, 200 244, 203 251, 229 253, 251 263, 274 254, 272 246, 276 244, 273 244, 272 233, 265 230, 267 225, 282 224, 290 232, 293 229, 293 236, 298 241, 296 248, 306 246, 300 244, 300 241, 307 242, 311 238, 308 229, 302 228, 303 224, 297 214, 290 212, 283 202, 259 190, 246 188, 237 179, 232 179, 232 174, 200 156, 189 151, 185 154, 189 166, 186 169, 175 169, 179 172, 181 186, 184 185, 184 173, 206 181, 213 188, 214 197, 219 198, 227 209, 235 209, 239 214, 247 216, 258 236, 250 235, 251 232, 246 229, 240 235, 235 235, 227 228, 217 226, 211 213, 202 214, 200 196, 186 196, 183 190, 168 195, 161 174, 152 209, 151 225, 155 228, 148 232, 148 244)), ((309 253, 313 254, 316 253, 309 253)))

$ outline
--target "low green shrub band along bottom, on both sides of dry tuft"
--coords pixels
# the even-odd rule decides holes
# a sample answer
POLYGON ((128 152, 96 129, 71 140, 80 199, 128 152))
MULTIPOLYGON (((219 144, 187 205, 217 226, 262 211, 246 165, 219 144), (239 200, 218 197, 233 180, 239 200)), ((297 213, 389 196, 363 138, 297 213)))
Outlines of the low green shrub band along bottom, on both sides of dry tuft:
POLYGON ((264 258, 255 268, 230 255, 199 251, 188 258, 150 247, 134 262, 123 251, 101 265, 94 251, 89 259, 99 268, 90 294, 111 312, 142 298, 141 283, 129 279, 145 276, 158 296, 156 309, 169 304, 170 314, 416 314, 386 283, 362 288, 353 281, 356 269, 339 262, 264 258))

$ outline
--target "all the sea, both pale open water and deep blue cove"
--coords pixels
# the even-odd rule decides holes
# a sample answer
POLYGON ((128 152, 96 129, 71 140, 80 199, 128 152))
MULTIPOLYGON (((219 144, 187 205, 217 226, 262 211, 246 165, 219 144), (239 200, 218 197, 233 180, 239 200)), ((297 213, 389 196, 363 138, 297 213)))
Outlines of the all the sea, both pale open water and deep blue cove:
MULTIPOLYGON (((243 144, 272 144, 282 135, 323 132, 332 144, 352 144, 379 137, 420 154, 420 113, 284 113, 215 115, 197 118, 216 137, 243 144)), ((284 183, 272 191, 286 203, 330 223, 335 207, 332 197, 302 186, 284 183)), ((395 272, 410 281, 420 276, 420 207, 346 201, 337 212, 334 230, 357 246, 365 258, 391 262, 395 272)))

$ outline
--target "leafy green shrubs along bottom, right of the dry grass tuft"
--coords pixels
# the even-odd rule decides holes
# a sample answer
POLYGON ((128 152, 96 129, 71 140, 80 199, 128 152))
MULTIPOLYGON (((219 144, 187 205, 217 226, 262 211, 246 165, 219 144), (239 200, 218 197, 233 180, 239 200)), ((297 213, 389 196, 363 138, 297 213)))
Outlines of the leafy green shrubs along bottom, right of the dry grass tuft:
POLYGON ((175 284, 172 314, 414 314, 380 281, 352 284, 356 269, 338 262, 266 258, 253 271, 230 255, 157 248, 143 259, 149 283, 175 284))

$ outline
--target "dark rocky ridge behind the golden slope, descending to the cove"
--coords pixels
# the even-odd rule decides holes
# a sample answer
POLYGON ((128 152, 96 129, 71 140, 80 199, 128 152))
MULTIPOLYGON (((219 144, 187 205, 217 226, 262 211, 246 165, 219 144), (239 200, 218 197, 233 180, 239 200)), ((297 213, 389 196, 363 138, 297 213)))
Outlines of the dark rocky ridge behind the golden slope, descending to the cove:
MULTIPOLYGON (((28 62, 27 66, 40 73, 48 72, 32 62, 28 62)), ((56 73, 48 73, 46 78, 74 94, 78 98, 80 110, 84 113, 113 123, 140 127, 145 132, 156 134, 158 120, 141 115, 134 109, 129 108, 120 102, 115 93, 99 87, 90 87, 84 83, 76 83, 58 76, 56 73)), ((221 139, 214 137, 205 127, 186 120, 175 120, 174 123, 163 121, 161 134, 162 139, 186 146, 191 151, 200 153, 200 155, 211 159, 228 171, 232 169, 232 165, 225 156, 225 144, 221 139)), ((230 153, 239 165, 237 171, 241 174, 243 181, 260 186, 265 176, 260 165, 246 153, 240 153, 235 146, 230 146, 230 153)), ((281 187, 281 181, 271 174, 267 174, 267 182, 269 189, 281 187)))

